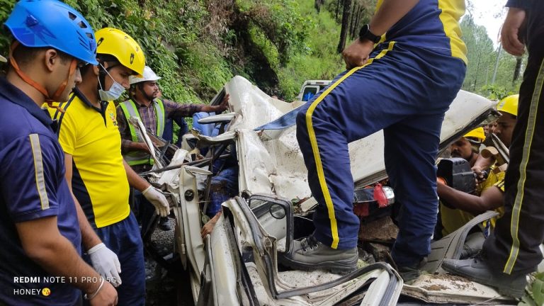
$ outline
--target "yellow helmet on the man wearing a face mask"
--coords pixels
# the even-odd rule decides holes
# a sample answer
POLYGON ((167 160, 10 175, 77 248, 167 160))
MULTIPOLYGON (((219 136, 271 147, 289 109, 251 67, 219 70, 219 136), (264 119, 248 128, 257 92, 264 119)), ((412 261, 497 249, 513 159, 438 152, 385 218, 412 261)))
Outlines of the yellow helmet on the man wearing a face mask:
POLYGON ((94 35, 97 55, 113 55, 123 66, 132 69, 138 77, 142 77, 145 55, 136 40, 115 28, 103 28, 97 30, 94 35))

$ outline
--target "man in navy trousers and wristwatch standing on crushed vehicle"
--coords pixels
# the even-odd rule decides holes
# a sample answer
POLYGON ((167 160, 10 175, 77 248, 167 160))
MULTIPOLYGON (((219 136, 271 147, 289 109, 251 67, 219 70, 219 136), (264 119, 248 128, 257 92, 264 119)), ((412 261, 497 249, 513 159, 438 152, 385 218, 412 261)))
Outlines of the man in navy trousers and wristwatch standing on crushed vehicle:
POLYGON ((346 72, 301 107, 297 140, 308 169, 315 231, 280 256, 292 268, 356 268, 348 143, 383 130, 385 167, 402 203, 392 258, 419 276, 436 225, 436 167, 444 113, 466 69, 458 21, 463 0, 383 0, 343 52, 346 72), (448 9, 443 9, 448 8, 448 9))

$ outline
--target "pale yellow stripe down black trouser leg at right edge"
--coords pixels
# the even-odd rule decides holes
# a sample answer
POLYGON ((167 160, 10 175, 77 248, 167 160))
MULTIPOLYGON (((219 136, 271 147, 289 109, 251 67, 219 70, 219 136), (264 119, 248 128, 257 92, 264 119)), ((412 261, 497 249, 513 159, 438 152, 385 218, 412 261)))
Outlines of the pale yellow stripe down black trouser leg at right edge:
MULTIPOLYGON (((523 196, 525 182, 527 179, 527 164, 529 162, 531 154, 531 145, 533 142, 533 135, 535 134, 536 126, 536 112, 538 111, 538 103, 540 102, 540 95, 542 94, 542 88, 544 84, 544 61, 540 63, 540 69, 538 70, 538 76, 536 77, 535 90, 533 91, 533 97, 531 98, 531 106, 529 106, 529 118, 527 121, 527 130, 525 131, 525 142, 523 142, 523 155, 521 157, 521 163, 519 164, 519 181, 518 181, 518 193, 516 194, 516 200, 514 200, 514 207, 512 208, 512 219, 510 220, 510 234, 512 236, 512 246, 510 249, 510 256, 504 265, 503 272, 506 274, 512 273, 514 264, 519 254, 519 217, 521 212, 521 205, 523 205, 523 196)), ((540 203, 539 203, 540 204, 540 203)))

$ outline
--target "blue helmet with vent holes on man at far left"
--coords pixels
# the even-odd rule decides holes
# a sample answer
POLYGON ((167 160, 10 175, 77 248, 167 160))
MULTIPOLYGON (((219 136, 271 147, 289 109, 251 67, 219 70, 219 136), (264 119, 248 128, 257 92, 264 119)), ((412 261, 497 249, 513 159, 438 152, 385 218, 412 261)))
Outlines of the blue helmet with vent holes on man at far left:
POLYGON ((78 60, 98 64, 91 25, 78 11, 60 1, 18 1, 4 25, 26 47, 52 47, 78 60))

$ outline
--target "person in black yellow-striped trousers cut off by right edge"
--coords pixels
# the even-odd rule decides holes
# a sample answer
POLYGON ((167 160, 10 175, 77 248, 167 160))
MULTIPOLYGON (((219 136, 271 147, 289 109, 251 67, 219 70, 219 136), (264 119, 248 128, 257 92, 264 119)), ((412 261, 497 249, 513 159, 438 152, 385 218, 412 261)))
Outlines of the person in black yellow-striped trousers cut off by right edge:
POLYGON ((499 293, 521 297, 526 275, 542 261, 544 193, 542 182, 544 125, 540 99, 544 80, 544 1, 509 0, 501 30, 502 46, 511 55, 528 50, 519 89, 518 120, 509 147, 504 179, 504 215, 486 239, 480 256, 465 261, 446 260, 442 267, 499 293))

